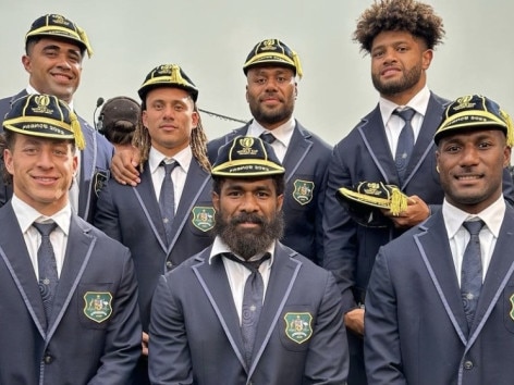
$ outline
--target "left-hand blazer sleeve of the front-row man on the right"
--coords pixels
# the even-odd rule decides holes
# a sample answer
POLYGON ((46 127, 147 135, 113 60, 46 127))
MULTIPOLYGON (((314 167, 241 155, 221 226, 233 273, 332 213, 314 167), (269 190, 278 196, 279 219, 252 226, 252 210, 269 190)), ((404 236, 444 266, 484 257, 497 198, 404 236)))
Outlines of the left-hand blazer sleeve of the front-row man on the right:
POLYGON ((396 298, 383 248, 378 252, 366 294, 364 358, 368 382, 406 385, 396 316, 396 298))

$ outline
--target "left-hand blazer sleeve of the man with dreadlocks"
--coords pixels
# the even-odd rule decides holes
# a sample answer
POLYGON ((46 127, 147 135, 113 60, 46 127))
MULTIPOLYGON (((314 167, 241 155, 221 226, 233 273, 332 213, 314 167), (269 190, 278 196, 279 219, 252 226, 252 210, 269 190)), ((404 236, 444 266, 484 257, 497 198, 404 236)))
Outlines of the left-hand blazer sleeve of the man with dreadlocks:
POLYGON ((106 183, 98 194, 93 224, 111 238, 123 243, 118 207, 112 200, 111 183, 113 182, 106 183))

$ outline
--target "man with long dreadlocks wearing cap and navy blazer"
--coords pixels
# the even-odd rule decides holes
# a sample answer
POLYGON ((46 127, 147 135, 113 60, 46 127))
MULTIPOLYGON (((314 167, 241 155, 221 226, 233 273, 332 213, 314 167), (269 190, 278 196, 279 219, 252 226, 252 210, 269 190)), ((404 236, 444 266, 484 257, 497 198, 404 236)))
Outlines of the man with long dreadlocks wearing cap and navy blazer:
POLYGON ((95 225, 131 249, 139 285, 143 356, 134 384, 147 374, 150 302, 159 276, 212 243, 207 138, 196 108, 198 89, 176 64, 154 69, 138 90, 142 116, 133 145, 140 183, 114 179, 99 194, 95 225))

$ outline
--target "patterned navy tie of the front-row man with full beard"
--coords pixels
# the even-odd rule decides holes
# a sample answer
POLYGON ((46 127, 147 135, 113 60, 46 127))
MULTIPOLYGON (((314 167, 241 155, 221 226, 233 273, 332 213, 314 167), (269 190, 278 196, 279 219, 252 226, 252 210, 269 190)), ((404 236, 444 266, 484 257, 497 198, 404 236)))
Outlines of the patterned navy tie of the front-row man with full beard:
POLYGON ((261 259, 257 261, 243 261, 230 252, 223 254, 231 261, 241 263, 248 269, 252 274, 245 283, 245 290, 243 294, 243 311, 241 320, 241 334, 243 336, 243 344, 245 348, 246 363, 249 367, 252 363, 252 353, 255 345, 255 335, 257 332, 257 324, 259 323, 260 311, 262 310, 262 300, 265 293, 265 284, 259 272, 260 264, 270 259, 269 252, 265 253, 261 259))

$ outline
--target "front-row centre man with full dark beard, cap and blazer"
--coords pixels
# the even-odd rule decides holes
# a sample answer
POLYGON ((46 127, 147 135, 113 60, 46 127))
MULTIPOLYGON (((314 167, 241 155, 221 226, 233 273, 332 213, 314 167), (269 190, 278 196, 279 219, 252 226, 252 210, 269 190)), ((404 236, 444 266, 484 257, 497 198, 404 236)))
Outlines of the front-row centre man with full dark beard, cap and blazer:
POLYGON ((345 384, 334 278, 278 241, 283 174, 259 138, 220 148, 212 167, 217 238, 162 276, 154 295, 152 384, 345 384), (259 295, 252 280, 260 281, 259 295))

